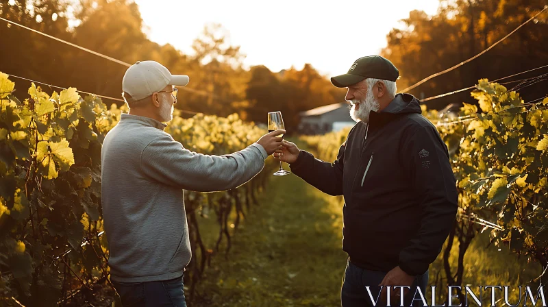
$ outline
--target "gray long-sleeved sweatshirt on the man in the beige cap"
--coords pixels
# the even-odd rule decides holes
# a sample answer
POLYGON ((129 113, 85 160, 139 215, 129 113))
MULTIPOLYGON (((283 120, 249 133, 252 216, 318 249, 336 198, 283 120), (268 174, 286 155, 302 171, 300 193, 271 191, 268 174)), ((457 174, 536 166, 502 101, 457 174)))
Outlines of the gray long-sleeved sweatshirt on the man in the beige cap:
POLYGON ((105 136, 101 180, 110 272, 118 282, 169 280, 190 262, 183 189, 236 188, 264 167, 264 148, 253 145, 226 156, 189 151, 166 125, 122 114, 105 136))

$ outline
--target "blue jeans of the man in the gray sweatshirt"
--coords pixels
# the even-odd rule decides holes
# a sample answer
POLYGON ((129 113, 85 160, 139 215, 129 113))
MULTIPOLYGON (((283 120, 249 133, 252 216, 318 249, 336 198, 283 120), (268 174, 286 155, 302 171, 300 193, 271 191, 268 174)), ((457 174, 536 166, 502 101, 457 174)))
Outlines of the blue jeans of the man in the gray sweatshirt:
POLYGON ((160 282, 111 282, 124 307, 186 307, 182 276, 160 282))

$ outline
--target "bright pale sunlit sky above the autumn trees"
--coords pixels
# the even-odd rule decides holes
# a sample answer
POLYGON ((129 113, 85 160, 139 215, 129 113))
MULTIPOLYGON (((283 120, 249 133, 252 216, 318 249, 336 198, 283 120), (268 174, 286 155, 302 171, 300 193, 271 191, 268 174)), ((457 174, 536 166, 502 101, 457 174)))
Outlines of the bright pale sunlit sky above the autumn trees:
POLYGON ((149 39, 192 54, 192 41, 206 23, 221 23, 245 66, 271 71, 310 63, 331 76, 354 60, 378 54, 386 34, 401 27, 411 10, 435 14, 438 0, 182 1, 136 0, 149 39))

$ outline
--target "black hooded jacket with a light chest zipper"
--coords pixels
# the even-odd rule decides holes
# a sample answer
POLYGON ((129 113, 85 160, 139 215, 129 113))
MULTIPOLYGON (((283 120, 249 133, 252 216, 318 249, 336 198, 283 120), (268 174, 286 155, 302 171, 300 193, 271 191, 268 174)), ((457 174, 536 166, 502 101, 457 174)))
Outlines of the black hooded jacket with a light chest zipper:
POLYGON ((333 163, 301 151, 290 168, 344 195, 343 250, 362 269, 425 273, 453 227, 458 193, 447 146, 412 95, 356 123, 333 163))

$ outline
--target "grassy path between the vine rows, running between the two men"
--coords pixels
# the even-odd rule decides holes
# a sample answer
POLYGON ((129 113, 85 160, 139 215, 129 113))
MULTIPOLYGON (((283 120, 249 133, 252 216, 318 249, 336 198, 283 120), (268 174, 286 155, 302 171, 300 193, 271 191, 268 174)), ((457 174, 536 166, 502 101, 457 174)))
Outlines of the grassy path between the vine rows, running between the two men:
POLYGON ((206 269, 193 306, 340 306, 340 200, 291 174, 273 176, 258 201, 228 259, 206 269))

